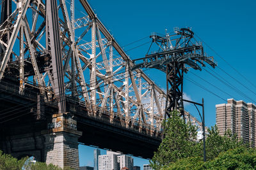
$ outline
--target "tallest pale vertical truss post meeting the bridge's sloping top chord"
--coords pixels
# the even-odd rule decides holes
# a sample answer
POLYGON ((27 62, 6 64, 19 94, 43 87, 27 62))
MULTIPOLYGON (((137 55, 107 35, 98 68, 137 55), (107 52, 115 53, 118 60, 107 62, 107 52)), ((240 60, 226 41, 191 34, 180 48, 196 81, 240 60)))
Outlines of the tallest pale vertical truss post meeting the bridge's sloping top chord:
MULTIPOLYGON (((90 77, 90 90, 91 90, 91 101, 93 107, 96 105, 96 22, 93 19, 92 22, 92 54, 90 56, 91 64, 92 64, 92 71, 90 77)), ((95 110, 94 110, 95 111, 95 110)), ((95 112, 93 111, 93 114, 95 112)))

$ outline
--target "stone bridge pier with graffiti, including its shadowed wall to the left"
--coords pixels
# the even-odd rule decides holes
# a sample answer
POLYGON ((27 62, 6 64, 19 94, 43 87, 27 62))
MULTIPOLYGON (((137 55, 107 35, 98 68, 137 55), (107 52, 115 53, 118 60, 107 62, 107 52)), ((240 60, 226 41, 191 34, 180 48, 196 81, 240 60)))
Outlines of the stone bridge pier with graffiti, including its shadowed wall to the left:
POLYGON ((17 159, 33 156, 47 164, 79 169, 78 138, 81 135, 71 115, 54 114, 44 122, 1 128, 0 149, 17 159))

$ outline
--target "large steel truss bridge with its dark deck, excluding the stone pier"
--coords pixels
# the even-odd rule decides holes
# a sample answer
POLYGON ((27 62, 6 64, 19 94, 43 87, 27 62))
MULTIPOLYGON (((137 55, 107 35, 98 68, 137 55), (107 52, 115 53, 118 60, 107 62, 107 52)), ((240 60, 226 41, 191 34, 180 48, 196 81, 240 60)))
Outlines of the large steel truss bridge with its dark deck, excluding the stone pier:
POLYGON ((49 129, 63 113, 86 145, 150 158, 161 142, 166 93, 130 69, 86 0, 1 1, 0 64, 3 136, 49 129))

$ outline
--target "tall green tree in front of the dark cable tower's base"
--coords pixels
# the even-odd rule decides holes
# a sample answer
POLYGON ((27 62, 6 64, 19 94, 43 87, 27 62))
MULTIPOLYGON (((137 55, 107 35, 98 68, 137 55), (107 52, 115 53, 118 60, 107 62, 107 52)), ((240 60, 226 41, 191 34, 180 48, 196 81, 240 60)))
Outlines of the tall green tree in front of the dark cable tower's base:
POLYGON ((170 115, 166 121, 164 139, 150 160, 150 166, 154 169, 161 169, 181 158, 201 154, 201 148, 196 146, 196 128, 190 122, 186 124, 179 117, 179 112, 173 111, 170 115))

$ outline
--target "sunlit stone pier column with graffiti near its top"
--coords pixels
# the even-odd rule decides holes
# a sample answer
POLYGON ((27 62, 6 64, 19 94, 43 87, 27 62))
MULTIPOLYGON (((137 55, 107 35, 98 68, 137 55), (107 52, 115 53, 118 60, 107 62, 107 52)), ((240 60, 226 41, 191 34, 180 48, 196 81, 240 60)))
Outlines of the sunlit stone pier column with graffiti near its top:
POLYGON ((79 169, 78 138, 82 132, 77 131, 76 120, 64 114, 55 114, 47 127, 52 132, 42 132, 45 137, 45 162, 61 168, 79 169))

